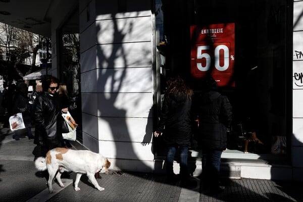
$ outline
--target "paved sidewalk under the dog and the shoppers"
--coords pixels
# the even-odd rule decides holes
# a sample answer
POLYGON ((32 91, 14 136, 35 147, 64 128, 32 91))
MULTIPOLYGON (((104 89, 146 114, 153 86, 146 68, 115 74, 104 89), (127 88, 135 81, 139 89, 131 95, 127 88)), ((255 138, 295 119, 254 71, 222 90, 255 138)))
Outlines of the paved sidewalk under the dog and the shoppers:
POLYGON ((258 179, 224 179, 224 192, 213 196, 178 185, 167 184, 165 175, 113 171, 97 179, 104 191, 98 191, 82 175, 80 191, 73 188, 75 174, 62 178, 61 188, 54 182, 49 194, 46 179, 40 177, 33 163, 33 140, 16 141, 7 129, 0 130, 0 201, 303 201, 298 182, 258 179))

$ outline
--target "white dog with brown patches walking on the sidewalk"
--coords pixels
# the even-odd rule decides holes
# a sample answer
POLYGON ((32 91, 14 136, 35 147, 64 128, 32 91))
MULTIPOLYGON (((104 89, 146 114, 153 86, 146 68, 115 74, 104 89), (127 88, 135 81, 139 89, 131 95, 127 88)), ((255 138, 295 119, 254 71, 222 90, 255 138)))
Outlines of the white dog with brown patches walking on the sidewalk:
POLYGON ((82 174, 87 175, 88 179, 96 189, 103 191, 104 188, 99 186, 94 175, 97 172, 108 173, 111 162, 102 155, 93 153, 89 150, 54 148, 47 152, 45 158, 37 158, 35 166, 39 171, 47 170, 49 175, 47 184, 50 193, 54 193, 52 182, 58 170, 59 172, 56 175, 56 179, 61 187, 64 187, 64 184, 61 181, 61 174, 64 171, 73 171, 77 173, 75 180, 76 191, 80 190, 78 183, 82 174))

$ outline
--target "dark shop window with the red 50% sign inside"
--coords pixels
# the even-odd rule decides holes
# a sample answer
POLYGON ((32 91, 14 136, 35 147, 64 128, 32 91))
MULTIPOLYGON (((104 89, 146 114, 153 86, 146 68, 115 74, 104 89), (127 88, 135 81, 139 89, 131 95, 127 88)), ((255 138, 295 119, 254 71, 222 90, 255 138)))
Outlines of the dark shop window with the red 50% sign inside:
MULTIPOLYGON (((289 159, 291 4, 283 0, 162 0, 163 18, 158 17, 156 23, 161 93, 165 77, 171 74, 183 77, 195 94, 203 90, 201 80, 206 75, 218 81, 233 106, 223 158, 289 159)), ((156 10, 156 22, 158 14, 156 10)), ((161 140, 155 144, 158 156, 165 154, 163 144, 161 140)))

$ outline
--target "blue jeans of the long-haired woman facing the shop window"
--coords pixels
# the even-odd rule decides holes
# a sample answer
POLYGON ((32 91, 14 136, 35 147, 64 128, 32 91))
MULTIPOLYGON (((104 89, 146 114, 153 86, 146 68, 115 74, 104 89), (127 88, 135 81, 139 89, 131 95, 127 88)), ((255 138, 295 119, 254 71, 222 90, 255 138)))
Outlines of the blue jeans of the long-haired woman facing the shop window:
POLYGON ((173 170, 173 164, 174 164, 174 158, 176 154, 177 148, 180 149, 180 175, 181 179, 185 179, 189 176, 188 168, 187 168, 187 147, 175 147, 175 146, 169 146, 167 148, 167 156, 166 156, 166 173, 168 177, 172 177, 174 174, 173 170))

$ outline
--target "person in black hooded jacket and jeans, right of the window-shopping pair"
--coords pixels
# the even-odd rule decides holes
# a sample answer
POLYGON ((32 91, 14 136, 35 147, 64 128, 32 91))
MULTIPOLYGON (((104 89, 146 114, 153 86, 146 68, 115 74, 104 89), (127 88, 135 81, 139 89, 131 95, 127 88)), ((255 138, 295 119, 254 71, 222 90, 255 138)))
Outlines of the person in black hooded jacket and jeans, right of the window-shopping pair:
POLYGON ((218 92, 217 82, 206 79, 206 91, 195 100, 195 113, 199 118, 199 145, 202 146, 203 187, 211 192, 224 189, 219 173, 222 151, 227 146, 226 127, 232 120, 232 107, 228 98, 218 92))

